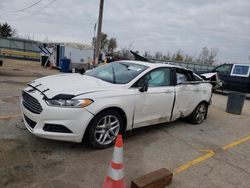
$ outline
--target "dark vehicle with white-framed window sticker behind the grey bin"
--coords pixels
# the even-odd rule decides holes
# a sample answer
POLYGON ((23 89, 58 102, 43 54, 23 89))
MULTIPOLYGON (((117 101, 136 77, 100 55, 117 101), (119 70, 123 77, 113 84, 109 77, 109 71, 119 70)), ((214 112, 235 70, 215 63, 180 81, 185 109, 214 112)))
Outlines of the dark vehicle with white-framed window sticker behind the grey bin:
POLYGON ((218 73, 222 89, 250 93, 250 64, 223 64, 209 72, 218 73))

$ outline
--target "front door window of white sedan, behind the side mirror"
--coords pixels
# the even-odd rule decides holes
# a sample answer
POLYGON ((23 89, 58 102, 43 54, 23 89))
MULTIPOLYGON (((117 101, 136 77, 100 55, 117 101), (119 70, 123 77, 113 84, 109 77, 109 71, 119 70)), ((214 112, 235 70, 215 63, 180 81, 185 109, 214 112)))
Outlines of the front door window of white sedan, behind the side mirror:
POLYGON ((139 82, 138 86, 141 86, 143 81, 148 82, 149 87, 162 87, 162 86, 170 86, 170 69, 169 68, 159 68, 147 73, 143 76, 139 82))

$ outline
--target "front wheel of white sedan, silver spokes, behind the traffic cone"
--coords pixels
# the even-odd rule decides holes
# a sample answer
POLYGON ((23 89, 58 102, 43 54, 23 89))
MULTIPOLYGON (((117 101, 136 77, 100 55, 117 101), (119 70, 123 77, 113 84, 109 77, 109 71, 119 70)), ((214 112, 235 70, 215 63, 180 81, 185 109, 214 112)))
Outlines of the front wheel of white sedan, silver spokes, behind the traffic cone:
POLYGON ((114 145, 118 134, 123 133, 121 115, 112 109, 97 114, 90 122, 87 130, 88 143, 96 149, 104 149, 114 145))

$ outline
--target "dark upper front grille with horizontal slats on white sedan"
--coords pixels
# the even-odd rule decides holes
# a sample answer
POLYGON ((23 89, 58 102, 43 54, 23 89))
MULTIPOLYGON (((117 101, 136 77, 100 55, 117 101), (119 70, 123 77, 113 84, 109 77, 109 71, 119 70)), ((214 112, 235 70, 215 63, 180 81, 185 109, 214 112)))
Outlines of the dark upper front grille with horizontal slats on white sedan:
POLYGON ((35 114, 40 114, 43 111, 43 108, 41 104, 38 102, 38 100, 29 95, 28 93, 23 91, 22 97, 23 97, 23 106, 27 108, 29 111, 35 114))

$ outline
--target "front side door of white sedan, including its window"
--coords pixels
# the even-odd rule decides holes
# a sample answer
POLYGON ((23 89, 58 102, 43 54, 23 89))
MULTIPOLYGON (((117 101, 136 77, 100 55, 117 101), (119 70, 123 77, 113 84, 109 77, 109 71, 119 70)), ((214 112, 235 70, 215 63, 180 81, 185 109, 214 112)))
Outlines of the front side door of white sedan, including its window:
POLYGON ((168 122, 174 102, 172 71, 168 67, 157 68, 144 75, 135 84, 134 128, 168 122), (147 91, 139 91, 143 82, 147 91))

